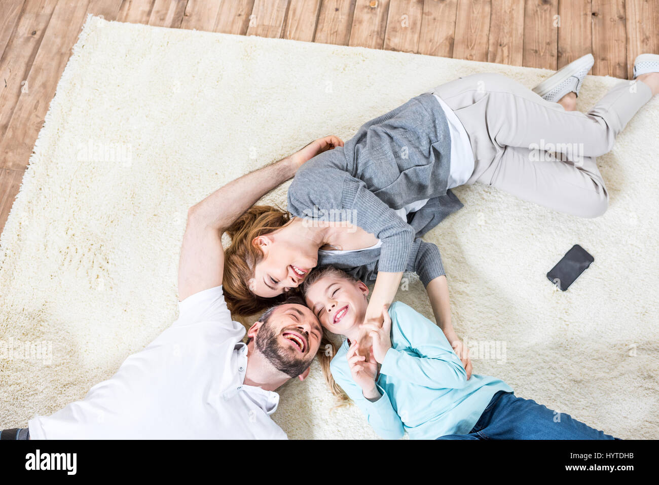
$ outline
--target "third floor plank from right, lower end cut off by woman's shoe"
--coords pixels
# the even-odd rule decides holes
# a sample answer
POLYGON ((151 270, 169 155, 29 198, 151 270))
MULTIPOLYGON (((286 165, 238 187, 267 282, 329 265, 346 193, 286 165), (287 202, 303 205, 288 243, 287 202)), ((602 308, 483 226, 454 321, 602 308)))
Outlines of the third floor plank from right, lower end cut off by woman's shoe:
POLYGON ((592 52, 592 14, 590 0, 558 3, 558 61, 561 67, 592 52))

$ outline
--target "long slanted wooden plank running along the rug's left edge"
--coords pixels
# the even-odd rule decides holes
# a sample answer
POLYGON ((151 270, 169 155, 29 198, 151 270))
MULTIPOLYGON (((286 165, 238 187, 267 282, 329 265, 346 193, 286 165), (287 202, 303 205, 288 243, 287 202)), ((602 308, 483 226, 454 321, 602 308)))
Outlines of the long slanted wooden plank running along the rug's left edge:
POLYGON ((43 34, 20 98, 0 142, 0 168, 24 169, 57 82, 87 14, 88 1, 60 0, 43 34))

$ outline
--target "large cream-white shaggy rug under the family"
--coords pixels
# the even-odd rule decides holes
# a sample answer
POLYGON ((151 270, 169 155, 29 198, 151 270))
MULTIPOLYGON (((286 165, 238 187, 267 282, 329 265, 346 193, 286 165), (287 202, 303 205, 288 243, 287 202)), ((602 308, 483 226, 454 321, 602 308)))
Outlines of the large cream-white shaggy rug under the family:
MULTIPOLYGON (((88 20, 0 241, 0 427, 82 398, 175 320, 188 206, 486 71, 529 87, 549 72, 88 20)), ((616 82, 588 76, 579 108, 616 82)), ((474 372, 621 438, 659 438, 658 113, 655 98, 600 158, 603 217, 476 185, 456 190, 465 208, 426 237, 474 372), (545 273, 575 243, 595 262, 561 293, 545 273), (484 343, 496 355, 483 358, 484 343)), ((266 200, 285 204, 285 186, 266 200)), ((432 317, 418 280, 399 298, 432 317)), ((273 418, 291 438, 375 437, 356 407, 333 403, 314 363, 281 389, 273 418)))

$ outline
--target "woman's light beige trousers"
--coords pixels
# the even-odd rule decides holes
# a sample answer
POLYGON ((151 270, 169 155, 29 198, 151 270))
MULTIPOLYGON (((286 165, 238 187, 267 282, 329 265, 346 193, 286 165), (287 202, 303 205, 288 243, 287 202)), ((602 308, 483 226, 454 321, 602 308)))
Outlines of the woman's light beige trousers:
POLYGON ((486 183, 542 206, 597 217, 608 192, 595 157, 650 98, 643 82, 622 81, 588 113, 565 111, 501 74, 472 74, 431 93, 462 122, 474 152, 467 181, 486 183))

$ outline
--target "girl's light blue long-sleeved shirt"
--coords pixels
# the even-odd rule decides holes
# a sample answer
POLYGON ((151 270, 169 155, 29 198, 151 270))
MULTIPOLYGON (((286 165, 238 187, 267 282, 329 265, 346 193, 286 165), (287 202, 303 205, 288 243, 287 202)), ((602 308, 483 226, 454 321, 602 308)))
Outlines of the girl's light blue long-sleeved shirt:
POLYGON ((343 342, 330 364, 334 380, 364 412, 382 438, 397 440, 407 431, 413 440, 468 434, 505 382, 467 373, 444 332, 403 302, 389 307, 391 349, 376 380, 382 397, 368 401, 350 374, 343 342))

